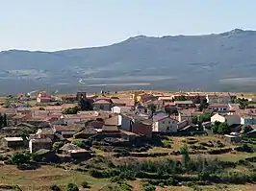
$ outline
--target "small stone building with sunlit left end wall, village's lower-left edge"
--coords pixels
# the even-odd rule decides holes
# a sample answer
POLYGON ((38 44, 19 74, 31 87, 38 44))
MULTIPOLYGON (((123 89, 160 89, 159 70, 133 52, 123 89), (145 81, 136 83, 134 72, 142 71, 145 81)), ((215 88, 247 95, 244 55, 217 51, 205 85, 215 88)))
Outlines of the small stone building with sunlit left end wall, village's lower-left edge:
POLYGON ((50 138, 33 138, 29 141, 30 153, 35 153, 41 149, 51 150, 52 140, 50 138))

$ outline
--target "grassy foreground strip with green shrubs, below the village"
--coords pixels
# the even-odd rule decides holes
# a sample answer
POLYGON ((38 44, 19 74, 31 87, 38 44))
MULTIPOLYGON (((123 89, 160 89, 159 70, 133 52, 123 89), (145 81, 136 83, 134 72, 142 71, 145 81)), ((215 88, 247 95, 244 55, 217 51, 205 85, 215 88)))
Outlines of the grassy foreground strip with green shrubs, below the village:
POLYGON ((162 137, 162 143, 134 151, 93 147, 96 155, 79 163, 45 165, 27 152, 0 155, 6 163, 0 166, 0 190, 256 189, 253 139, 231 145, 220 136, 162 137), (130 152, 143 156, 122 156, 130 152), (25 170, 33 169, 28 164, 37 168, 25 170))

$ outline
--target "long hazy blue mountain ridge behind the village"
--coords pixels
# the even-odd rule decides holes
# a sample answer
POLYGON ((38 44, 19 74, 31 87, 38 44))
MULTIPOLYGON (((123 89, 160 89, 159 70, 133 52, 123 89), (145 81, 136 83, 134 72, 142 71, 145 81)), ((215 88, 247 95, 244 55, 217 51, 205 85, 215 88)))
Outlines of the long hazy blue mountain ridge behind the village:
POLYGON ((37 88, 254 91, 255 41, 255 31, 234 29, 204 36, 134 36, 110 46, 57 52, 3 51, 0 93, 37 88))

